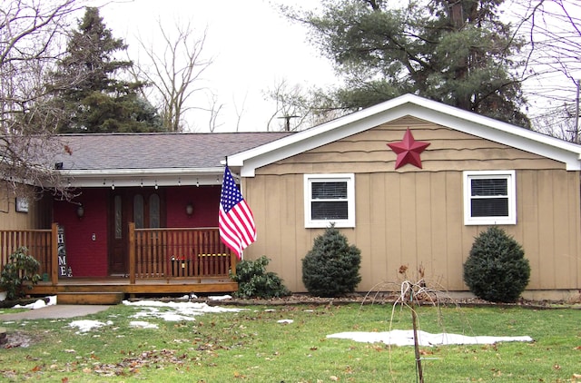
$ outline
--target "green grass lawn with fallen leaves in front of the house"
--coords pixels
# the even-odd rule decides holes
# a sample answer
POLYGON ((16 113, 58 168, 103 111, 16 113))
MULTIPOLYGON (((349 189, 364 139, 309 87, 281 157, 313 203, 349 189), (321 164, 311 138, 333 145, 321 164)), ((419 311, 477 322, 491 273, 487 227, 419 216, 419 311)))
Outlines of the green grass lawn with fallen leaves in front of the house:
MULTIPOLYGON (((85 333, 69 326, 74 319, 3 323, 9 334, 34 342, 27 348, 0 349, 0 380, 416 381, 413 347, 326 337, 343 331, 411 329, 409 309, 398 308, 392 317, 388 304, 256 306, 205 313, 193 321, 132 318, 141 311, 119 305, 81 318, 105 323, 85 333), (281 319, 293 321, 282 324, 281 319), (158 328, 130 328, 132 320, 158 328)), ((418 313, 419 327, 428 332, 535 339, 422 347, 427 382, 567 382, 581 374, 579 309, 422 307, 418 313)))

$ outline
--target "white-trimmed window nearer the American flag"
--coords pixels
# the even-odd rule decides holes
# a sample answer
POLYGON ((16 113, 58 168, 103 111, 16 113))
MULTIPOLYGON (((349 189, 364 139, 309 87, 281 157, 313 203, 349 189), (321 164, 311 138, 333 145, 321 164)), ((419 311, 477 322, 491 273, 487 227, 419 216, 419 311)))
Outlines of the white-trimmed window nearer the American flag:
POLYGON ((355 227, 355 175, 305 174, 305 227, 355 227))

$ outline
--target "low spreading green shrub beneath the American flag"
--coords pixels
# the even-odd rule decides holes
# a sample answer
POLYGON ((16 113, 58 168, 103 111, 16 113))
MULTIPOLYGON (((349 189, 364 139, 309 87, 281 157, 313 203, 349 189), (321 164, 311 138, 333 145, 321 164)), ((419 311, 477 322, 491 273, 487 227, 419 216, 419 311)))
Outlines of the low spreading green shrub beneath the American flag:
POLYGON ((238 291, 234 292, 234 297, 271 299, 291 295, 281 277, 266 270, 270 261, 265 256, 258 260, 241 260, 236 265, 236 274, 231 275, 231 279, 238 282, 238 291))

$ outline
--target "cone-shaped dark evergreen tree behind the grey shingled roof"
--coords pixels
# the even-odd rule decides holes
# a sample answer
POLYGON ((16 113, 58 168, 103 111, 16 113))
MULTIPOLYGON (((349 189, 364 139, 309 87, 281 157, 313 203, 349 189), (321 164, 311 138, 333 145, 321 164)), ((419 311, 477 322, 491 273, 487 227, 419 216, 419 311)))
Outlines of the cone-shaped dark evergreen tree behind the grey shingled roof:
POLYGON ((162 122, 151 104, 138 96, 144 83, 118 79, 131 61, 115 59, 127 45, 113 38, 98 8, 87 7, 67 53, 52 76, 54 103, 69 116, 60 133, 161 131, 162 122))

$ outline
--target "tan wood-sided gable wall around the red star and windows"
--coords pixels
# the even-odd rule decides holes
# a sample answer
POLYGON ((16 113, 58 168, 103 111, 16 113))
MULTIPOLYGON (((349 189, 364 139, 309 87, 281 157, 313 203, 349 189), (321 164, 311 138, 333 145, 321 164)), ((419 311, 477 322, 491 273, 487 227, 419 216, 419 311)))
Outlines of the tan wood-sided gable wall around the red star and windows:
POLYGON ((466 133, 403 118, 257 170, 244 195, 258 227, 245 257, 271 258, 270 269, 293 291, 304 291, 301 259, 323 230, 304 228, 303 174, 354 172, 356 228, 342 229, 361 250, 359 290, 401 280, 400 265, 443 290, 466 290, 462 265, 483 226, 464 225, 464 170, 517 171, 517 225, 503 228, 519 241, 532 267, 530 290, 581 286, 579 173, 536 154, 466 133), (408 127, 419 141, 423 169, 394 170, 408 127))

